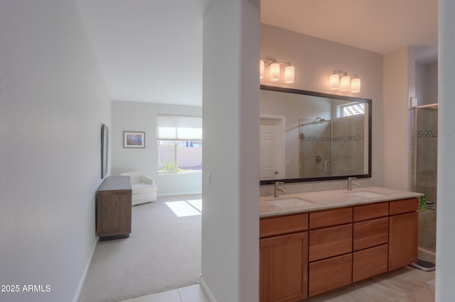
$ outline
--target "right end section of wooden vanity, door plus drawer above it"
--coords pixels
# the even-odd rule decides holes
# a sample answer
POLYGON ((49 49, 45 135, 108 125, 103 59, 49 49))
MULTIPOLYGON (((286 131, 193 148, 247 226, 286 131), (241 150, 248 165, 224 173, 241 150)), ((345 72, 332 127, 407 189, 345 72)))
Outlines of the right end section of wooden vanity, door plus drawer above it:
POLYGON ((390 201, 389 271, 417 262, 418 206, 417 198, 390 201))

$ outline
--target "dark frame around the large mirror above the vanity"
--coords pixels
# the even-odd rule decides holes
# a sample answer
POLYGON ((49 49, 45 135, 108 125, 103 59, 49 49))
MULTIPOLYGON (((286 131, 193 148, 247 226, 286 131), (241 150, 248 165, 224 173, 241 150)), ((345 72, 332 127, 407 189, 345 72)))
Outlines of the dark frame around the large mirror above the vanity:
MULTIPOLYGON (((268 86, 260 85, 261 90, 277 91, 277 92, 286 92, 289 94, 303 94, 306 96, 321 96, 328 99, 341 99, 343 101, 359 101, 368 104, 368 173, 367 174, 355 174, 355 175, 338 175, 338 176, 329 176, 329 177, 306 177, 306 178, 293 178, 293 179, 267 179, 260 180, 259 185, 264 184, 274 184, 277 181, 282 181, 285 184, 296 183, 296 182, 309 182, 309 181, 326 181, 326 180, 338 180, 338 179, 347 179, 348 177, 357 177, 357 178, 371 178, 371 155, 372 155, 372 100, 371 99, 362 99, 354 96, 340 96, 338 94, 324 94, 322 92, 300 90, 293 88, 284 88, 277 86, 268 86)), ((365 113, 367 114, 367 113, 365 113)))

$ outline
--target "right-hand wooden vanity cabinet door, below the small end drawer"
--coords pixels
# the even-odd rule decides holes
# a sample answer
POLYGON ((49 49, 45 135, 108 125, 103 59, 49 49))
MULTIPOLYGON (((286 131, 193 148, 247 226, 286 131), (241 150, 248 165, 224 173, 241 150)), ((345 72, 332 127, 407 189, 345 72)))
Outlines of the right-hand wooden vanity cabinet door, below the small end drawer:
POLYGON ((389 271, 417 261, 419 224, 417 212, 389 218, 389 271))

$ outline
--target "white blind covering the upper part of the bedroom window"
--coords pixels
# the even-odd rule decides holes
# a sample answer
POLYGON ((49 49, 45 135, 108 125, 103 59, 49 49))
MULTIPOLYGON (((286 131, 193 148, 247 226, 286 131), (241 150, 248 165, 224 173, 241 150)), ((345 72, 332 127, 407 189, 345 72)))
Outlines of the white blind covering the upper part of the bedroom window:
POLYGON ((202 140, 202 117, 159 114, 157 140, 202 140))

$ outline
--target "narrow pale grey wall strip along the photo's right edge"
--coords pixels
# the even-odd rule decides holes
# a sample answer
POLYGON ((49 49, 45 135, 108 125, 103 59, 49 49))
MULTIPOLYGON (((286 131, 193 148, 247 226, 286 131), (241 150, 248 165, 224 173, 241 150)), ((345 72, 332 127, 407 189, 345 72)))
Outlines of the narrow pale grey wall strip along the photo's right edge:
POLYGON ((455 301, 455 2, 439 0, 439 124, 436 301, 455 301))

